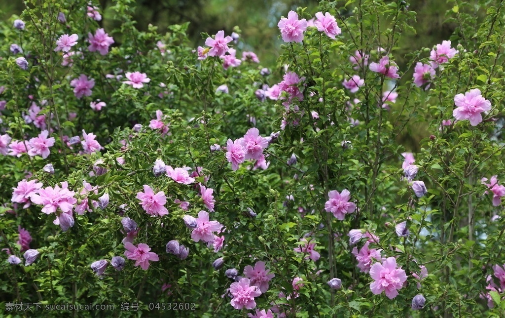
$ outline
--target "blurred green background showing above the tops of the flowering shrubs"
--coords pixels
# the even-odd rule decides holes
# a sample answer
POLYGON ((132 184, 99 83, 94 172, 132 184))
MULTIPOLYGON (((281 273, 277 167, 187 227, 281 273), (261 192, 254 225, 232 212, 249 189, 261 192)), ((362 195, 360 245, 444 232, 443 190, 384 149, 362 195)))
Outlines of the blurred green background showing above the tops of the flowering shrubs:
MULTIPOLYGON (((395 0, 396 1, 396 0, 395 0)), ((387 2, 387 1, 386 1, 387 2)), ((343 8, 346 1, 337 1, 343 8)), ((112 13, 108 11, 111 0, 93 2, 100 8, 103 20, 99 22, 110 30, 119 25, 120 21, 112 20, 112 13)), ((239 43, 239 50, 251 50, 258 54, 265 66, 275 62, 281 40, 277 29, 277 22, 281 16, 287 16, 289 10, 297 7, 308 7, 308 12, 315 14, 319 2, 314 0, 139 0, 136 2, 135 20, 140 30, 147 29, 149 23, 159 27, 164 33, 168 25, 190 22, 189 35, 195 47, 203 44, 200 32, 215 34, 218 30, 225 30, 230 34, 233 27, 238 26, 242 31, 243 41, 239 43)), ((408 35, 401 43, 398 52, 401 55, 418 50, 422 47, 433 47, 434 44, 448 39, 454 31, 454 26, 444 24, 445 12, 451 8, 440 0, 412 0, 410 10, 417 12, 417 34, 408 35)), ((20 14, 24 9, 22 1, 0 0, 0 18, 9 19, 13 14, 20 14)))

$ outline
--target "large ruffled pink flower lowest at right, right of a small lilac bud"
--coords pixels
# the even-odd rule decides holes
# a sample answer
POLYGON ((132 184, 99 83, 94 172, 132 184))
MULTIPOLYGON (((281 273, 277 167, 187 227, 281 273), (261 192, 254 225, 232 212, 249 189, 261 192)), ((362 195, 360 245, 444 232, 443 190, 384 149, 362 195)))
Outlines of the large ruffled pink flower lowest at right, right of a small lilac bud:
POLYGON ((398 289, 403 287, 403 283, 407 281, 405 270, 401 267, 396 268, 396 259, 388 257, 381 263, 375 263, 370 268, 370 277, 374 280, 370 284, 370 290, 375 295, 386 292, 389 299, 398 296, 398 289))

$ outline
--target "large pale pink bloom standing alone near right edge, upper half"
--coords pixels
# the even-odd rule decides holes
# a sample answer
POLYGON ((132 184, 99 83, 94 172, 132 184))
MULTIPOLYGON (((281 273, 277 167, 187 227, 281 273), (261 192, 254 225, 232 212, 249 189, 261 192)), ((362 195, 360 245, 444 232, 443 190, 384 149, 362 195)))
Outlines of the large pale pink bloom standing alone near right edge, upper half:
POLYGON ((480 89, 471 89, 470 92, 458 94, 454 97, 456 109, 452 115, 457 120, 469 119, 472 126, 477 126, 482 121, 482 112, 491 110, 491 102, 484 99, 480 89))

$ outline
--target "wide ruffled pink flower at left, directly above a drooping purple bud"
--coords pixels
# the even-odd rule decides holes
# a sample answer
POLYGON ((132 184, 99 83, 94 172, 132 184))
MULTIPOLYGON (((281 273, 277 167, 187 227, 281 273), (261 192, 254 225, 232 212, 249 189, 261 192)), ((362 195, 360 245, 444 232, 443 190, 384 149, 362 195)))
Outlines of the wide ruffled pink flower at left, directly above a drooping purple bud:
POLYGON ((43 205, 42 212, 45 214, 54 213, 58 208, 65 213, 72 213, 74 204, 77 202, 74 195, 75 192, 68 190, 68 183, 65 181, 61 188, 56 185, 54 188, 40 189, 38 194, 30 196, 30 200, 34 204, 43 205))

